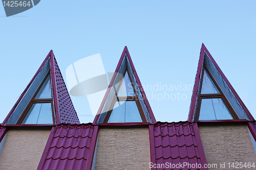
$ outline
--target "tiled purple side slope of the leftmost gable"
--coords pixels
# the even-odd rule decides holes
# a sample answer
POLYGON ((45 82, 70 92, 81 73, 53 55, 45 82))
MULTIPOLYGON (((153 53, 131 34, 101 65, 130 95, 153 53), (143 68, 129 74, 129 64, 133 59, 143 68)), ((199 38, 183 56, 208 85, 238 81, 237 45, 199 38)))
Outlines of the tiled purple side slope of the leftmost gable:
POLYGON ((57 88, 58 109, 60 123, 65 124, 80 124, 74 105, 71 101, 67 86, 61 75, 59 66, 54 57, 55 80, 57 88))

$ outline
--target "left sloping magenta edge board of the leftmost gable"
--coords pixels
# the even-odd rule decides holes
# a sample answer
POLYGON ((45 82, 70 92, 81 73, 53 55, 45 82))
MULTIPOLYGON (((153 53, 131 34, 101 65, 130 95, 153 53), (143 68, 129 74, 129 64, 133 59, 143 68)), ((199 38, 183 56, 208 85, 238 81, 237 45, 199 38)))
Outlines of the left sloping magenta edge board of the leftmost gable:
POLYGON ((22 100, 22 98, 24 97, 24 95, 26 94, 26 92, 28 91, 29 87, 31 86, 31 84, 33 83, 33 81, 35 80, 36 76, 38 75, 39 71, 42 69, 42 67, 44 67, 44 65, 46 64, 48 58, 50 57, 52 53, 52 50, 48 53, 48 55, 46 56, 45 60, 42 62, 42 64, 40 65, 40 67, 38 68, 38 70, 36 71, 34 77, 31 79, 31 81, 29 82, 29 84, 27 85, 27 87, 25 88, 25 90, 23 91, 23 93, 19 96, 17 102, 14 104, 14 106, 12 107, 11 111, 9 112, 9 114, 6 116, 4 122, 2 123, 2 125, 6 125, 8 119, 10 118, 11 114, 13 113, 13 111, 16 109, 16 107, 18 106, 19 102, 22 100))

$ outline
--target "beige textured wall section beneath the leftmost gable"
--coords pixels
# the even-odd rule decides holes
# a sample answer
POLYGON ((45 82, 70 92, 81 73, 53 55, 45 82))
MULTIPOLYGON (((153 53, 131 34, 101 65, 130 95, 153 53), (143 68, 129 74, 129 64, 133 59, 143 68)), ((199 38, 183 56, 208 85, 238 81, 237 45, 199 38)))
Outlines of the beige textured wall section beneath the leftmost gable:
POLYGON ((37 169, 51 130, 9 130, 0 169, 37 169))

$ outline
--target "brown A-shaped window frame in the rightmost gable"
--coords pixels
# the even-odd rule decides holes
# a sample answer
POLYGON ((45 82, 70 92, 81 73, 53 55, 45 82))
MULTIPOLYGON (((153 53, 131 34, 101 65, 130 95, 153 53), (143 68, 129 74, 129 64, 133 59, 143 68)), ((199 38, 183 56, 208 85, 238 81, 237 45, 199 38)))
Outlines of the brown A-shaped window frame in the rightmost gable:
MULTIPOLYGON (((201 94, 202 91, 202 84, 203 81, 200 82, 200 95, 199 95, 199 104, 198 104, 198 109, 196 111, 196 115, 194 118, 194 121, 203 121, 203 120, 199 120, 199 116, 200 116, 200 110, 201 110, 201 103, 202 103, 202 99, 214 99, 214 98, 221 98, 222 101, 224 102, 224 104, 226 105, 227 109, 229 110, 231 116, 233 117, 233 119, 240 119, 237 115, 237 113, 233 110, 232 106, 229 104, 228 100, 226 99, 224 93, 222 92, 221 88, 219 87, 218 83, 215 81, 214 77, 211 75, 210 71, 208 70, 208 68, 205 66, 205 64, 203 64, 203 68, 202 68, 202 79, 204 76, 204 70, 208 73, 208 75, 210 76, 212 82, 214 82, 214 84, 216 85, 217 89, 219 90, 220 93, 211 93, 211 94, 201 94)), ((219 120, 219 119, 216 119, 219 120)))

